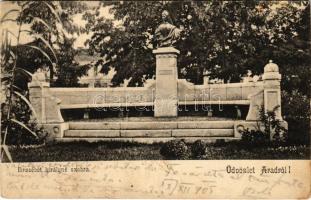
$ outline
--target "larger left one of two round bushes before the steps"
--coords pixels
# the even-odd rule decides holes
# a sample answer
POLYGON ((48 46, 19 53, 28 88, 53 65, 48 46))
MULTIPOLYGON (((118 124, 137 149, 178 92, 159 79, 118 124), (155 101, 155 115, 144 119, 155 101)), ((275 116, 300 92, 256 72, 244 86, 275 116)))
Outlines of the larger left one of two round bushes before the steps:
POLYGON ((189 157, 189 149, 184 140, 171 140, 164 143, 160 154, 166 159, 186 159, 189 157))

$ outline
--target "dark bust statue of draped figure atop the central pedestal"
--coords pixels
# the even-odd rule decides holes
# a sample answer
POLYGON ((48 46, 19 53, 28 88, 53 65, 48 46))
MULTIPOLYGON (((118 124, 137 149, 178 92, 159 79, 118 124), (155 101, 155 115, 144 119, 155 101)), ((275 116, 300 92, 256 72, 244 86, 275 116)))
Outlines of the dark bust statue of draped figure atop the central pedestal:
POLYGON ((180 38, 181 30, 172 24, 167 10, 162 12, 162 23, 155 30, 157 47, 173 46, 180 38))

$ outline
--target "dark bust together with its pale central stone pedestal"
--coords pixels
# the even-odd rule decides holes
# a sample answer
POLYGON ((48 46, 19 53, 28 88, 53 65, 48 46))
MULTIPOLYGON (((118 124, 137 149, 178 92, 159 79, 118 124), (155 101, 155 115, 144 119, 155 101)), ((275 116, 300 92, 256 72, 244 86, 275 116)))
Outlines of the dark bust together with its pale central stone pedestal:
POLYGON ((155 117, 177 117, 177 55, 179 51, 173 47, 180 37, 181 30, 174 26, 169 13, 162 12, 163 22, 155 31, 156 55, 156 94, 154 101, 155 117))

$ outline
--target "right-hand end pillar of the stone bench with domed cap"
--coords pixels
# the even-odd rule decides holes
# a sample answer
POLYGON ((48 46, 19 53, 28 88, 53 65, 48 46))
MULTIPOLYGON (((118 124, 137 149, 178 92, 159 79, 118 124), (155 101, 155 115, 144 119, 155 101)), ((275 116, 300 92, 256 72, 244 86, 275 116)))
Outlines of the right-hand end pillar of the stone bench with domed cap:
POLYGON ((279 73, 279 67, 272 62, 264 68, 264 74, 262 76, 264 83, 264 109, 265 112, 275 110, 276 119, 282 120, 281 115, 281 74, 279 73))

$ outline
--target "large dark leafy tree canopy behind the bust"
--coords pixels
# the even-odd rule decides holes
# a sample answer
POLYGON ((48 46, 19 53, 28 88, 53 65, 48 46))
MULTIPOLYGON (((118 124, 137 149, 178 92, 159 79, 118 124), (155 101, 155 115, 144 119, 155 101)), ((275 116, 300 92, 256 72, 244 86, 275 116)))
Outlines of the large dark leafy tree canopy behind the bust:
MULTIPOLYGON (((155 73, 153 34, 161 22, 161 11, 166 9, 174 25, 184 30, 177 45, 181 51, 180 78, 202 83, 202 73, 207 70, 212 78, 239 81, 247 69, 262 73, 271 55, 277 54, 277 61, 286 63, 289 59, 280 53, 284 49, 280 47, 288 46, 293 52, 297 47, 292 38, 298 33, 306 35, 308 19, 305 17, 302 21, 301 18, 308 16, 304 14, 308 9, 299 8, 306 2, 280 5, 253 0, 104 2, 100 6, 109 6, 118 21, 100 16, 99 8, 85 14, 86 30, 93 32, 87 44, 91 52, 101 54, 97 65, 103 67, 103 73, 115 68, 114 85, 130 78, 130 86, 142 85, 155 73)), ((306 51, 303 49, 303 54, 306 51)), ((300 56, 298 54, 293 57, 300 56)), ((290 69, 295 74, 293 67, 290 69)))

